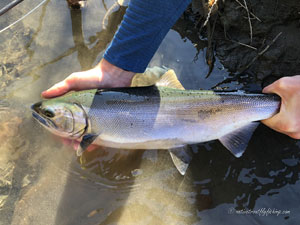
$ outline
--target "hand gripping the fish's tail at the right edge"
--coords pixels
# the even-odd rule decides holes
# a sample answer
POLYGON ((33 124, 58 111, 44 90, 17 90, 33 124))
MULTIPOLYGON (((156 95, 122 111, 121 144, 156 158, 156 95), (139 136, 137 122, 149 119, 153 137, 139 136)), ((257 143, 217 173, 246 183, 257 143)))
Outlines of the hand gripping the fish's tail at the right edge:
POLYGON ((263 89, 281 97, 280 111, 262 122, 270 128, 300 139, 300 75, 283 77, 263 89))

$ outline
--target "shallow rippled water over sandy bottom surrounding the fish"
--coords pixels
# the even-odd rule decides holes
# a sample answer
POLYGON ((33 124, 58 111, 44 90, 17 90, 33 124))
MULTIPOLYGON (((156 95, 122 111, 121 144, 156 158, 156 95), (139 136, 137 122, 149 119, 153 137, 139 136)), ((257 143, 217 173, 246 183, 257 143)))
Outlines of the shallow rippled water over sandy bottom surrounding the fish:
MULTIPOLYGON (((0 17, 0 29, 36 4, 0 17)), ((190 146, 183 177, 166 151, 100 148, 77 158, 31 118, 42 90, 101 59, 124 12, 102 30, 112 4, 89 0, 71 12, 49 0, 0 33, 0 224, 297 224, 300 142, 264 126, 239 159, 218 141, 190 146)), ((217 61, 205 79, 206 42, 184 26, 168 33, 150 66, 173 68, 188 89, 210 89, 230 74, 217 61)))

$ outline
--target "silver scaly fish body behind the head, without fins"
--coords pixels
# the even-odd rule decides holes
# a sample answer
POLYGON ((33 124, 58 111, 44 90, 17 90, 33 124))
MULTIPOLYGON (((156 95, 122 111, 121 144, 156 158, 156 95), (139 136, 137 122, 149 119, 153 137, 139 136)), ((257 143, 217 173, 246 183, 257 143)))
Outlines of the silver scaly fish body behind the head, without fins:
POLYGON ((219 139, 278 107, 273 95, 151 86, 99 90, 87 114, 99 145, 169 149, 219 139))

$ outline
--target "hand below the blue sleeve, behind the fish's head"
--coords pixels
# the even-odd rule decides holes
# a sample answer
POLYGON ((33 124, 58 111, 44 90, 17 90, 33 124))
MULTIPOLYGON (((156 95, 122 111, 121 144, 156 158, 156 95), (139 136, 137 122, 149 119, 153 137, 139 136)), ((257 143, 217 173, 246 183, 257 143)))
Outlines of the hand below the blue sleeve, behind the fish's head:
POLYGON ((69 91, 93 88, 128 87, 135 73, 125 71, 102 59, 93 69, 76 72, 42 93, 44 98, 53 98, 69 91))

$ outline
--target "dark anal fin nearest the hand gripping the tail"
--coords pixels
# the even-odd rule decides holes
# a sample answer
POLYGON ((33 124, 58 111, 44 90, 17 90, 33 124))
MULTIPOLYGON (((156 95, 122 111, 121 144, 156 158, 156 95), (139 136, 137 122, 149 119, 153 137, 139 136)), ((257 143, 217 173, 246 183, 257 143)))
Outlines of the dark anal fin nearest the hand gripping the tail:
POLYGON ((226 134, 219 140, 235 157, 241 157, 258 124, 259 122, 247 124, 246 126, 226 134))

